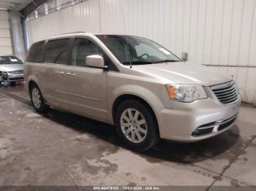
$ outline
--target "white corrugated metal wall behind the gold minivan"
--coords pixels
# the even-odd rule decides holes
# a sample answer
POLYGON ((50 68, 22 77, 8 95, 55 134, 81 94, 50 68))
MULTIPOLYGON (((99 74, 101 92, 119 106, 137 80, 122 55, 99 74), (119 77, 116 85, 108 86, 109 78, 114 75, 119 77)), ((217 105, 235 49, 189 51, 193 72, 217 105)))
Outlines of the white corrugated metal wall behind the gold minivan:
POLYGON ((32 43, 72 31, 124 34, 125 23, 127 34, 233 74, 243 100, 251 102, 256 100, 255 7, 255 0, 89 0, 27 26, 32 43))

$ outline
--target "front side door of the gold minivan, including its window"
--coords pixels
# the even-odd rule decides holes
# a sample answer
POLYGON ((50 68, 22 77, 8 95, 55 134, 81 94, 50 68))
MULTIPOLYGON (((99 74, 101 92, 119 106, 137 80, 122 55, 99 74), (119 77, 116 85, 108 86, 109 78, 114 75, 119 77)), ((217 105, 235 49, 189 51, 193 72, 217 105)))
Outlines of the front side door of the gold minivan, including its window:
POLYGON ((107 120, 107 74, 103 69, 86 66, 86 56, 103 55, 89 39, 74 40, 72 66, 68 66, 67 96, 69 109, 97 120, 107 120))

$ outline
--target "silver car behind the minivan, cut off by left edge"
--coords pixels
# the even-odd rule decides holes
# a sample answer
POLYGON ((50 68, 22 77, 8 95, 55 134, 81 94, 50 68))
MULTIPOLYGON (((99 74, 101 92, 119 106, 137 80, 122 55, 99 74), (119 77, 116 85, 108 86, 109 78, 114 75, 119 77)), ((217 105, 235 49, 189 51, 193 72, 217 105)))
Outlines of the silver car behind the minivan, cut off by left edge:
POLYGON ((23 62, 14 55, 0 55, 0 83, 23 81, 23 62))

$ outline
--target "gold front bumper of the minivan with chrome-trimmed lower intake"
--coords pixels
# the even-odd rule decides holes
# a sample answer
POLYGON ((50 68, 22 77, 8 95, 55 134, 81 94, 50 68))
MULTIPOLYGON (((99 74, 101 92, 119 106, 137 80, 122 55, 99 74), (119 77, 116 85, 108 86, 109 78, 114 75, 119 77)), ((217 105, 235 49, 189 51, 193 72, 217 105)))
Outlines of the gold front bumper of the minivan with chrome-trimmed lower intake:
POLYGON ((173 109, 163 108, 157 111, 160 136, 162 139, 184 142, 216 136, 234 125, 240 105, 240 95, 230 105, 223 105, 212 98, 192 103, 177 102, 173 109))

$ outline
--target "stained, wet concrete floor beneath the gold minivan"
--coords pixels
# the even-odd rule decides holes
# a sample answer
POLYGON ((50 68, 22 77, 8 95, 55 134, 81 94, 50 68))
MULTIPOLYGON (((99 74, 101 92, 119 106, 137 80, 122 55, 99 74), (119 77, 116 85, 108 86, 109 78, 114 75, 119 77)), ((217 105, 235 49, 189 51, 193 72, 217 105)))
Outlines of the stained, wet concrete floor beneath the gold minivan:
MULTIPOLYGON (((132 152, 112 126, 50 109, 37 114, 22 85, 0 88, 0 185, 256 185, 256 109, 193 144, 132 152)), ((255 189, 255 187, 249 187, 255 189)))

